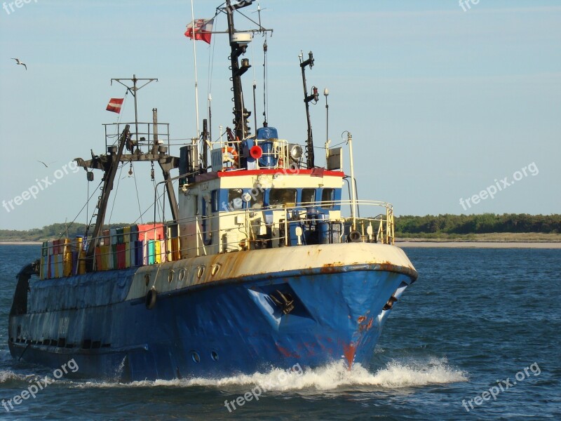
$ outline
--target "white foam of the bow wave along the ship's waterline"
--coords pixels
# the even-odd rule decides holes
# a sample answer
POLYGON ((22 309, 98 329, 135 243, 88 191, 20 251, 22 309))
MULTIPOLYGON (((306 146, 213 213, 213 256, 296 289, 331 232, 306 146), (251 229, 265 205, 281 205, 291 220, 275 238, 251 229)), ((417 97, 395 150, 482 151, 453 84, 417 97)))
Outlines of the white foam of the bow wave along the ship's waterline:
POLYGON ((466 382, 466 373, 448 365, 446 359, 428 361, 391 361, 375 373, 357 364, 352 370, 344 362, 287 373, 276 368, 267 373, 235 375, 219 379, 194 378, 190 380, 144 380, 140 382, 83 382, 76 387, 217 387, 219 389, 247 389, 253 385, 266 385, 268 392, 318 390, 330 391, 342 387, 375 387, 399 389, 426 385, 466 382))

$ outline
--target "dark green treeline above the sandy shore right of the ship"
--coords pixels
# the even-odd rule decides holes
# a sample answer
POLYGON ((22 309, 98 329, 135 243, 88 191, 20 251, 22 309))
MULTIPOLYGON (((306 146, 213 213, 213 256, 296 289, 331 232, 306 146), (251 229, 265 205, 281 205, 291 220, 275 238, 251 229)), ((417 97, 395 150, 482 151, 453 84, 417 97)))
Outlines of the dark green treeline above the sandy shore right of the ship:
POLYGON ((487 234, 490 232, 561 233, 561 215, 483 213, 482 215, 403 215, 395 218, 396 236, 403 234, 487 234))

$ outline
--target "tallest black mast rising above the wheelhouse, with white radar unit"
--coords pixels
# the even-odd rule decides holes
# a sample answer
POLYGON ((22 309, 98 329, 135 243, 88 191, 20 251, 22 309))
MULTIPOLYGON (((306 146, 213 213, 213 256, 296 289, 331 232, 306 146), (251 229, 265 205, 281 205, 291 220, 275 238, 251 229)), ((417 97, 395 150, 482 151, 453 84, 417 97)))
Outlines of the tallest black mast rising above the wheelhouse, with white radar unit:
POLYGON ((245 50, 251 41, 251 35, 247 33, 236 33, 234 28, 234 11, 245 6, 249 6, 252 1, 241 1, 234 6, 231 5, 230 0, 226 0, 226 14, 228 17, 228 34, 230 36, 230 67, 231 67, 231 81, 232 91, 234 93, 234 132, 236 133, 237 140, 243 140, 250 135, 250 128, 248 126, 248 117, 250 112, 245 109, 243 105, 243 90, 241 85, 241 75, 248 71, 250 61, 247 58, 241 60, 241 66, 238 62, 240 55, 245 54, 245 50), (247 35, 247 36, 243 36, 247 35))

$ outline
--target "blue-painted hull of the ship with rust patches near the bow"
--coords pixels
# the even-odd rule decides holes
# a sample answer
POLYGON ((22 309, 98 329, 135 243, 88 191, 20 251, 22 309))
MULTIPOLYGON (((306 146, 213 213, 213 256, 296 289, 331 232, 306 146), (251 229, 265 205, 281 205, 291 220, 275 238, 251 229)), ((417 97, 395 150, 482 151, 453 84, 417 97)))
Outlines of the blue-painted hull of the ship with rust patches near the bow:
MULTIPOLYGON (((111 272, 113 279, 119 272, 114 299, 131 282, 130 271, 111 272)), ((412 278, 379 265, 322 272, 281 272, 267 274, 265 280, 252 276, 243 282, 182 288, 158 294, 153 309, 142 298, 13 316, 12 332, 24 326, 26 338, 42 340, 44 326, 66 323, 67 344, 78 342, 84 333, 101 340, 97 349, 81 349, 17 342, 13 334, 10 349, 15 358, 53 368, 74 359, 83 377, 123 381, 215 377, 295 363, 316 367, 340 359, 365 365, 390 312, 382 308, 412 278), (279 290, 295 300, 290 314, 283 314, 270 298, 279 290)), ((85 276, 90 279, 82 283, 99 286, 108 273, 85 276)))

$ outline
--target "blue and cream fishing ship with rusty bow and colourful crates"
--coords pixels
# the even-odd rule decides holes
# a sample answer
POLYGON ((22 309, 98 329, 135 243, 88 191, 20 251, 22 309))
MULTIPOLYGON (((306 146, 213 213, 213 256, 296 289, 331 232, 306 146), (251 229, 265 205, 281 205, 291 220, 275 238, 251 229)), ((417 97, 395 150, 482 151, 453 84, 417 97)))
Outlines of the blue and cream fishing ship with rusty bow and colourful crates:
POLYGON ((357 197, 351 133, 350 175, 342 147, 316 164, 311 52, 299 55, 305 145, 283 140, 266 120, 252 133, 244 55, 269 29, 260 19, 257 29, 234 27, 250 4, 217 8, 227 15, 232 128, 214 140, 204 119, 200 137, 174 156, 156 109, 151 123, 138 122, 137 91, 152 79, 133 76, 135 121, 106 125, 104 153, 75 160, 87 182, 101 174, 95 213, 84 235, 46 241, 18 273, 8 323, 14 359, 51 368, 74 360, 75 375, 122 382, 372 360, 417 271, 394 245, 391 204, 357 197), (107 229, 118 168, 142 162, 160 166, 155 196, 171 219, 156 222, 154 213, 154 222, 107 229))

